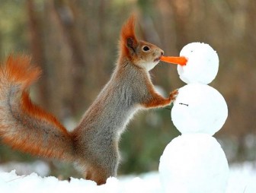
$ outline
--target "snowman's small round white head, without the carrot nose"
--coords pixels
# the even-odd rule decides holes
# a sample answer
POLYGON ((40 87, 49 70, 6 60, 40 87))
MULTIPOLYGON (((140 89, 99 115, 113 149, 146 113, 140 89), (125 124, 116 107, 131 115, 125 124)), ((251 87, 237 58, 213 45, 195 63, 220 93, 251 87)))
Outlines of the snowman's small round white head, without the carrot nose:
POLYGON ((209 84, 216 78, 219 57, 206 43, 189 43, 180 52, 187 58, 187 65, 178 65, 178 74, 185 83, 209 84))

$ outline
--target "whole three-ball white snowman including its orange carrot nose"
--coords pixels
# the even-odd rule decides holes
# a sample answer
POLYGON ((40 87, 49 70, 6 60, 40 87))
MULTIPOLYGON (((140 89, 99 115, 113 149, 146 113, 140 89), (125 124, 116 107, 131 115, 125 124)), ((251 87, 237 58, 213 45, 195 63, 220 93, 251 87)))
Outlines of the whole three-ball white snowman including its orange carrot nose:
POLYGON ((178 74, 187 83, 178 90, 171 120, 181 131, 165 147, 159 175, 165 192, 222 193, 226 191, 229 166, 222 147, 213 134, 228 115, 226 101, 208 86, 219 68, 217 53, 205 43, 190 43, 181 58, 163 57, 178 63, 178 74))

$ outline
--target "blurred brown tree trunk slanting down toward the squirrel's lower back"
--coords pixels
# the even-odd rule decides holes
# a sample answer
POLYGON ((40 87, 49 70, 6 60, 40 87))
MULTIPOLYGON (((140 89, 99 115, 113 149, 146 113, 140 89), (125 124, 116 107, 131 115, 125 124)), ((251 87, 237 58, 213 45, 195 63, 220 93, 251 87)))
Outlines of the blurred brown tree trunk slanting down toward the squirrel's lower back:
POLYGON ((71 107, 72 115, 81 109, 81 106, 85 106, 84 101, 86 101, 86 95, 84 94, 84 80, 86 73, 86 62, 84 59, 84 49, 81 46, 81 41, 79 39, 79 34, 76 29, 75 23, 77 21, 77 11, 75 2, 69 2, 58 0, 49 1, 52 4, 53 14, 56 14, 57 22, 59 22, 59 27, 61 27, 60 32, 66 41, 66 46, 69 47, 69 52, 71 56, 71 61, 69 63, 69 76, 71 85, 71 93, 66 103, 71 107))

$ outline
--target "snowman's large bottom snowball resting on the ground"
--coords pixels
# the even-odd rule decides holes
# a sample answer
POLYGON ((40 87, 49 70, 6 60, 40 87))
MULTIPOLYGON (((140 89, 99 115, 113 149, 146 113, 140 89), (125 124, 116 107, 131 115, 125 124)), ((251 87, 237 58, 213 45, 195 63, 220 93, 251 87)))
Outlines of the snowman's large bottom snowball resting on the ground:
POLYGON ((225 153, 210 134, 182 134, 160 158, 159 174, 165 192, 222 193, 229 166, 225 153))

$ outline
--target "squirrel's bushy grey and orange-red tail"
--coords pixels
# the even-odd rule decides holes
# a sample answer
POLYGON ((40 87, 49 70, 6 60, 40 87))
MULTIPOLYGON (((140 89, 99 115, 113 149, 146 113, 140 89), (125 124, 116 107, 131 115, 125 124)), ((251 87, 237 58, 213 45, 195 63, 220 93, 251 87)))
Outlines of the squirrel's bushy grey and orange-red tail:
POLYGON ((41 157, 72 160, 69 132, 57 119, 31 102, 28 88, 40 76, 24 55, 0 67, 0 139, 14 149, 41 157))

